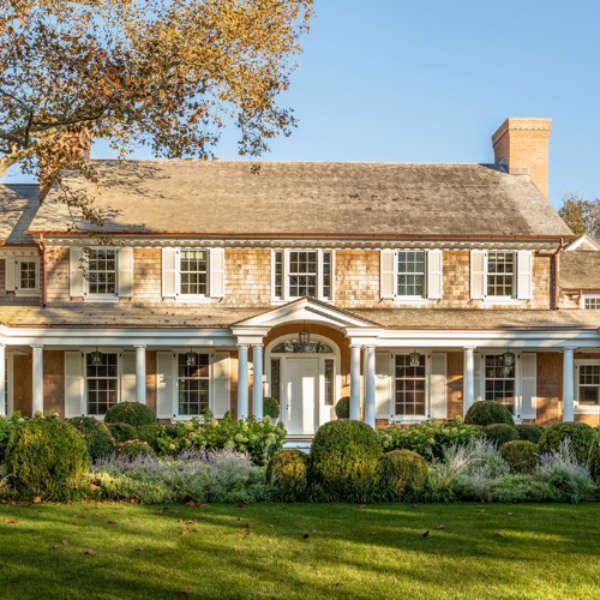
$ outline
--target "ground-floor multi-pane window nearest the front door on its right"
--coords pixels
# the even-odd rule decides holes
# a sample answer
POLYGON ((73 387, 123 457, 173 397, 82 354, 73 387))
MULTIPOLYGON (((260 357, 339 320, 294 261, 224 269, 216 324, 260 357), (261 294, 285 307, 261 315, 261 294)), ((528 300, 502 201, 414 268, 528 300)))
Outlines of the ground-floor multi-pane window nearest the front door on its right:
POLYGON ((425 355, 396 355, 396 414, 425 416, 425 355))

